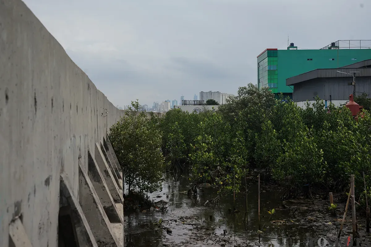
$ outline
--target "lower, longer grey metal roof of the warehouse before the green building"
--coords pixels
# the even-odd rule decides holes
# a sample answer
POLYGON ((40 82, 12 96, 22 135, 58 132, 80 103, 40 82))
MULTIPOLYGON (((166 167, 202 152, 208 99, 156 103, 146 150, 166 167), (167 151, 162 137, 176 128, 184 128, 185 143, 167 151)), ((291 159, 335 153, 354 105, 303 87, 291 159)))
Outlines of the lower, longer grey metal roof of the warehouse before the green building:
MULTIPOLYGON (((367 61, 367 60, 365 60, 367 61)), ((362 61, 363 62, 363 61, 362 61)), ((362 63, 360 62, 360 63, 362 63)), ((352 77, 351 75, 338 73, 336 71, 341 71, 345 73, 351 73, 353 71, 359 71, 356 74, 357 77, 370 76, 371 77, 371 68, 338 68, 338 69, 316 69, 297 76, 290 77, 286 79, 286 86, 291 86, 296 83, 303 81, 308 81, 316 78, 329 78, 329 77, 352 77)))

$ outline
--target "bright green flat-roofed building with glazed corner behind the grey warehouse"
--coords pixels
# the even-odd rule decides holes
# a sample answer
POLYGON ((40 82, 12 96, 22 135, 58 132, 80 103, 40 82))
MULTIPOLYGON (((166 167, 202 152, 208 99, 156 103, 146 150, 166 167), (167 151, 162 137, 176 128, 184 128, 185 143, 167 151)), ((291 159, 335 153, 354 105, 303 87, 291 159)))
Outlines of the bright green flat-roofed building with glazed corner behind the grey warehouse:
POLYGON ((287 50, 266 49, 257 56, 257 84, 277 96, 292 98, 293 86, 286 79, 316 69, 335 69, 371 59, 371 40, 338 40, 318 50, 300 49, 293 43, 287 50))

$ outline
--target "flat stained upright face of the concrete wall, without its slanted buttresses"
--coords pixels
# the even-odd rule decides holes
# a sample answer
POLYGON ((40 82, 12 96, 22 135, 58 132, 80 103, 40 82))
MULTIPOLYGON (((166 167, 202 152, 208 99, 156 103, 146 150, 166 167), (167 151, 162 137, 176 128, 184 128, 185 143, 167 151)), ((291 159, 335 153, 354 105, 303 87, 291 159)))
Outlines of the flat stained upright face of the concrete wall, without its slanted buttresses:
POLYGON ((58 245, 60 173, 79 198, 78 160, 122 116, 21 0, 0 0, 0 246, 19 212, 32 246, 58 245))

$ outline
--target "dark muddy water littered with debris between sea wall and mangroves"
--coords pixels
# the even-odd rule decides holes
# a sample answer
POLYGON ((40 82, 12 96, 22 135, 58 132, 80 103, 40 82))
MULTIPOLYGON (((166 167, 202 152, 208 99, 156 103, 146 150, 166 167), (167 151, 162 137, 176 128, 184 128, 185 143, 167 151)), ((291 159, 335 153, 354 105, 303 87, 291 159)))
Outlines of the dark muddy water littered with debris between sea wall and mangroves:
MULTIPOLYGON (((258 188, 256 183, 249 183, 247 187, 249 221, 244 223, 244 194, 238 195, 235 203, 241 212, 230 214, 233 196, 221 199, 220 206, 204 206, 205 201, 216 196, 216 191, 204 188, 197 197, 188 197, 184 192, 189 189, 187 178, 174 181, 164 176, 162 191, 149 196, 156 201, 168 201, 168 212, 125 215, 125 246, 308 246, 309 238, 336 236, 338 223, 328 213, 327 202, 321 204, 319 200, 316 206, 309 203, 295 210, 283 209, 279 191, 266 186, 262 186, 260 192, 261 225, 266 224, 263 233, 258 234, 258 188), (275 213, 269 218, 267 211, 272 208, 275 213), (172 233, 156 225, 160 219, 162 226, 170 228, 172 233)), ((345 237, 349 229, 346 225, 345 237)))

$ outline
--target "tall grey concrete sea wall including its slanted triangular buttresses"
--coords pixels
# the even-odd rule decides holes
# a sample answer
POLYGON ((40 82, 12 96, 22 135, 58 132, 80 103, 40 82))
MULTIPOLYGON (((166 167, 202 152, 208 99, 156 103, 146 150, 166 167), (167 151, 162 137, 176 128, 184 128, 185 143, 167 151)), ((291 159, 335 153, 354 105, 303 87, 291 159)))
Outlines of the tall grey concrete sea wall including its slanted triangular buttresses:
POLYGON ((124 114, 21 0, 0 0, 0 246, 122 244, 106 133, 124 114))

